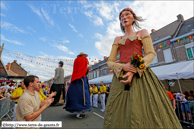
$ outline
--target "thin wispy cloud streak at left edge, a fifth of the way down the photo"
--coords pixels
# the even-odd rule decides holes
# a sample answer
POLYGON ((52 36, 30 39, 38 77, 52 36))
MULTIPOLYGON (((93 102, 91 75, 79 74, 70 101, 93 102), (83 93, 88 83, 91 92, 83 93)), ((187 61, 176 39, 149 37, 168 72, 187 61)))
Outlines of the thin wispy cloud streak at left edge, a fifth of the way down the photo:
POLYGON ((20 33, 26 33, 23 29, 18 28, 17 26, 8 23, 8 22, 1 22, 1 27, 9 30, 9 31, 14 31, 14 32, 20 32, 20 33))

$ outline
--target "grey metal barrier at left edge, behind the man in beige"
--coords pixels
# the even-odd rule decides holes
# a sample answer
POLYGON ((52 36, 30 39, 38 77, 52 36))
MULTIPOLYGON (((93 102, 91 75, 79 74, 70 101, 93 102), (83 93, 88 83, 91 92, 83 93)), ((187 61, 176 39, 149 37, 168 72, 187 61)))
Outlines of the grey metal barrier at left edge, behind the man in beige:
POLYGON ((8 115, 9 109, 10 109, 9 103, 10 103, 10 98, 0 100, 0 120, 6 115, 11 119, 11 117, 8 115))

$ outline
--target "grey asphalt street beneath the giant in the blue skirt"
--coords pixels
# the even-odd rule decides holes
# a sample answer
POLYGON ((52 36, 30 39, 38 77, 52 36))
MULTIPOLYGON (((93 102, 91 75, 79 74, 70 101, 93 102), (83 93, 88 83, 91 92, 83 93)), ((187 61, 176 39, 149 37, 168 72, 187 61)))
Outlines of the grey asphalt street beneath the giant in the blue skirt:
MULTIPOLYGON (((104 112, 98 108, 93 108, 90 112, 86 112, 86 117, 82 119, 76 118, 75 113, 69 113, 63 106, 50 106, 42 113, 42 121, 61 121, 63 129, 102 129, 104 121, 104 112)), ((10 116, 11 113, 9 113, 10 116)), ((2 121, 11 121, 8 117, 0 120, 0 129, 2 121)), ((192 129, 186 124, 182 124, 183 129, 192 129)), ((9 128, 6 128, 9 129, 9 128)), ((11 128, 10 128, 11 129, 11 128)), ((50 128, 51 129, 51 128, 50 128)))

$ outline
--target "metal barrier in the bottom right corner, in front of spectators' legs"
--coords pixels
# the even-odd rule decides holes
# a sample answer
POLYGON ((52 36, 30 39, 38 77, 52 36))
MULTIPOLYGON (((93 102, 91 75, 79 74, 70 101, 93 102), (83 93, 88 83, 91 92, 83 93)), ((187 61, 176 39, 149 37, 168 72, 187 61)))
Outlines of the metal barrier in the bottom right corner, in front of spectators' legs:
POLYGON ((176 100, 175 111, 180 122, 194 126, 194 101, 187 101, 185 103, 180 100, 176 100))

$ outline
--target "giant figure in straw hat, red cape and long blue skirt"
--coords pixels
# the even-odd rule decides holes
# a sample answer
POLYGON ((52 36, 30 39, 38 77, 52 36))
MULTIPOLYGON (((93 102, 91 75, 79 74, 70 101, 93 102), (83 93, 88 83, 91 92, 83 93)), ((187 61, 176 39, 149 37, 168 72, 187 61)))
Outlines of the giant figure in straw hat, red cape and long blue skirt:
POLYGON ((77 118, 85 117, 85 112, 90 111, 90 92, 87 78, 88 55, 81 52, 74 61, 71 84, 66 95, 64 109, 71 113, 76 112, 77 118))

